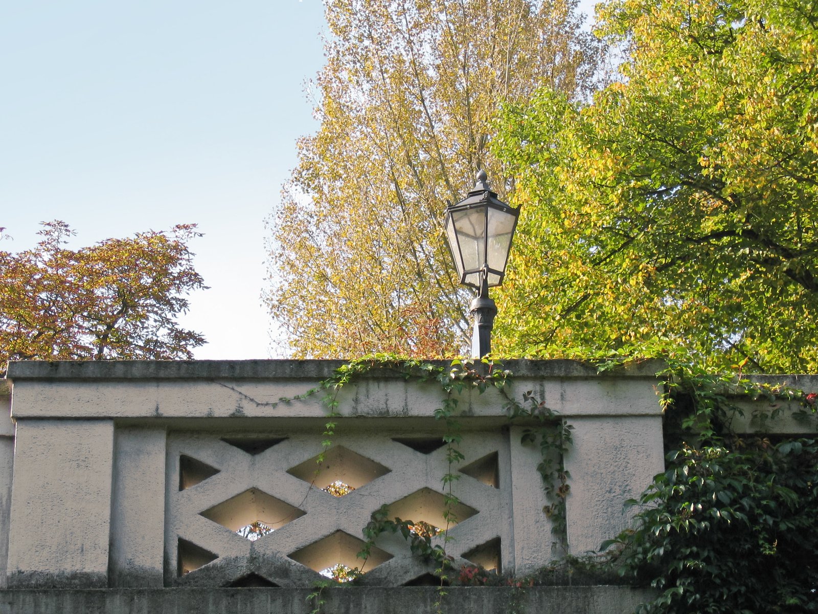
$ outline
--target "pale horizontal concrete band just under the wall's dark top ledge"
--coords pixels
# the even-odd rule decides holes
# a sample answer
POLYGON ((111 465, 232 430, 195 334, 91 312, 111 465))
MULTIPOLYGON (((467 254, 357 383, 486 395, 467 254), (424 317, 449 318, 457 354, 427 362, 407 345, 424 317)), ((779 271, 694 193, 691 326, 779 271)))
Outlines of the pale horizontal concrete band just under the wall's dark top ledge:
MULTIPOLYGON (((16 380, 11 415, 24 418, 323 418, 321 393, 292 399, 314 389, 318 380, 229 379, 65 379, 16 380)), ((654 377, 515 377, 510 394, 532 391, 538 400, 566 416, 655 415, 654 377)), ((365 378, 339 391, 339 412, 347 417, 428 417, 441 405, 435 383, 365 378)), ((507 399, 490 388, 483 395, 461 395, 465 416, 505 416, 507 399)))

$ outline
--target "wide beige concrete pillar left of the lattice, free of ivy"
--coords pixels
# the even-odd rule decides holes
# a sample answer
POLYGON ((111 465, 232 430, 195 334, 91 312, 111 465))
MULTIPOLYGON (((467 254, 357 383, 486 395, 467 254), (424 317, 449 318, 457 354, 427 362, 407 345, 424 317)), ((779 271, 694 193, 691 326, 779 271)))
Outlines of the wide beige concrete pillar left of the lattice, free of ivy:
POLYGON ((10 588, 108 585, 111 420, 19 420, 10 588))

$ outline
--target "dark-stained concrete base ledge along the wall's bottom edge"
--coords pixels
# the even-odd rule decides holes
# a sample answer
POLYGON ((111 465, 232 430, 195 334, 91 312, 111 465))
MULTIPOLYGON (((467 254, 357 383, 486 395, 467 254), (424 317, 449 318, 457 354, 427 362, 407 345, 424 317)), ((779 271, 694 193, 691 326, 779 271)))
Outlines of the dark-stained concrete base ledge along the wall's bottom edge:
MULTIPOLYGON (((308 614, 308 589, 109 589, 3 590, 0 614, 308 614)), ((627 586, 542 586, 447 589, 447 614, 505 614, 517 600, 528 614, 631 614, 651 598, 627 586)), ((321 594, 326 614, 427 614, 435 612, 434 587, 344 587, 321 594)), ((522 609, 522 608, 521 608, 522 609)))

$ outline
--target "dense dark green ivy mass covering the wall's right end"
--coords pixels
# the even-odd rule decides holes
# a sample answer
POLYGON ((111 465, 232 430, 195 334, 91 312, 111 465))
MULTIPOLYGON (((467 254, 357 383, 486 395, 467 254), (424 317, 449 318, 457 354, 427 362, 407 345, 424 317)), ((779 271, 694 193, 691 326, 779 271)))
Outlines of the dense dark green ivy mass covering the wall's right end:
POLYGON ((666 375, 666 470, 628 502, 636 528, 602 544, 623 577, 658 590, 639 612, 818 612, 818 441, 730 429, 735 395, 802 413, 816 395, 666 375))

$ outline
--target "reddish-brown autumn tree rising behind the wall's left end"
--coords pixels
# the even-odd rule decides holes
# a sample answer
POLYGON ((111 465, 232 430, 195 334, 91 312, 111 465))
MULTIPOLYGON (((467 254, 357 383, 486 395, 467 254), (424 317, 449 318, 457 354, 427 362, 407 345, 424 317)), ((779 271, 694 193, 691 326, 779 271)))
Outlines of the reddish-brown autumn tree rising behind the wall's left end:
POLYGON ((64 222, 43 224, 31 250, 0 251, 0 364, 28 359, 191 359, 205 343, 178 326, 183 295, 205 288, 187 242, 169 233, 107 239, 77 251, 64 222))

